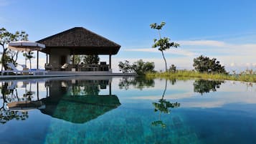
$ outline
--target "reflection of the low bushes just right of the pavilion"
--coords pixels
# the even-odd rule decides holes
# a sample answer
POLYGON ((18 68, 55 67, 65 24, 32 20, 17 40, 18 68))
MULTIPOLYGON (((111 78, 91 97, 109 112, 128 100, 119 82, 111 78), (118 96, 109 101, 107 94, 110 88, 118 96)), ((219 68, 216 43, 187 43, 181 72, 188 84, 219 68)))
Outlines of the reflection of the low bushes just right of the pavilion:
POLYGON ((145 77, 123 77, 118 84, 120 89, 125 90, 128 90, 131 85, 135 88, 143 90, 145 87, 154 87, 155 82, 153 79, 148 79, 145 77))

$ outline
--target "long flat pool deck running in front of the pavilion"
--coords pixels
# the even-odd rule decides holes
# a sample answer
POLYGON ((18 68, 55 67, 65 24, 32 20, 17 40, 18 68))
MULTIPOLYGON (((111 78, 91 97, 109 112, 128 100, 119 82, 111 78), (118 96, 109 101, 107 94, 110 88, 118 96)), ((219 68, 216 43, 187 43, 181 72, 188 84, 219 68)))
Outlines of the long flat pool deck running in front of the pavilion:
POLYGON ((49 71, 45 75, 1 75, 0 80, 73 76, 136 76, 136 73, 49 71))

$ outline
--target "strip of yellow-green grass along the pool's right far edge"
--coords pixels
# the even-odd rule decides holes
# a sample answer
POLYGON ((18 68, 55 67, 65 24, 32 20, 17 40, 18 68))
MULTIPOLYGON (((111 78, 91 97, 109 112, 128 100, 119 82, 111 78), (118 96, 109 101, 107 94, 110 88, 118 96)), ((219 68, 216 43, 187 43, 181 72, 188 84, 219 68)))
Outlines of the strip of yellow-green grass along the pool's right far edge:
POLYGON ((178 70, 176 72, 151 72, 147 73, 146 77, 151 78, 200 78, 200 79, 211 79, 211 80, 234 80, 242 82, 256 82, 255 74, 247 74, 247 72, 241 72, 240 75, 224 75, 224 74, 209 74, 209 73, 200 73, 192 70, 178 70))

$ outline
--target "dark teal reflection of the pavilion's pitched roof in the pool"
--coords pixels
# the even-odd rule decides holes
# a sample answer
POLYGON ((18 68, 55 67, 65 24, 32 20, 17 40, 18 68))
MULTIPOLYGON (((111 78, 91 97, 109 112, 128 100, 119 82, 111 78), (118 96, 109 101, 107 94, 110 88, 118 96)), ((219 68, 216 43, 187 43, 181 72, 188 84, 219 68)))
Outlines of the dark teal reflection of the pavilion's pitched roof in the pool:
POLYGON ((120 105, 115 95, 80 95, 78 97, 67 95, 58 102, 52 101, 49 97, 42 102, 45 105, 45 108, 41 109, 42 113, 72 123, 86 123, 120 105))

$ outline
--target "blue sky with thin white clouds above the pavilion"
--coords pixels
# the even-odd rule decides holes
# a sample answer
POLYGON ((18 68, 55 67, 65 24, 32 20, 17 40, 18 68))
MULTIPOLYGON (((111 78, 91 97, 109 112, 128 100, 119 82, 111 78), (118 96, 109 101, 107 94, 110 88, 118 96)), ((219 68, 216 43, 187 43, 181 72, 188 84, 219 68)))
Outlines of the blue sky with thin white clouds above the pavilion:
MULTIPOLYGON (((256 70, 255 14, 255 0, 0 0, 0 28, 23 30, 31 41, 85 27, 120 44, 112 57, 114 72, 118 62, 138 59, 164 69, 161 52, 151 48, 158 32, 149 27, 161 21, 166 22, 161 36, 181 45, 164 52, 168 66, 193 69, 193 59, 202 54, 217 58, 229 72, 256 70)), ((100 58, 108 62, 108 56, 100 58)), ((41 67, 45 62, 40 54, 41 67)), ((32 63, 35 67, 36 60, 32 63)))

